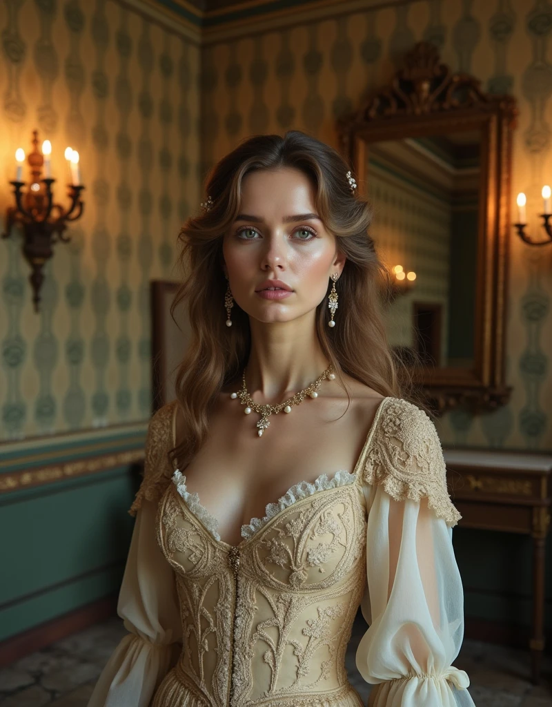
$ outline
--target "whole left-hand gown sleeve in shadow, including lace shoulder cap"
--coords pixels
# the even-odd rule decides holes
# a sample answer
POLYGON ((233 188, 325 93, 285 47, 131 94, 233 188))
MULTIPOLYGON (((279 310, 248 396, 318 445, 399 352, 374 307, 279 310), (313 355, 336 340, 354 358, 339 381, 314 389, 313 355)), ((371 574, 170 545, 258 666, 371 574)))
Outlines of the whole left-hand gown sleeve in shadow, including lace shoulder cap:
POLYGON ((182 647, 174 571, 155 530, 157 497, 167 477, 165 452, 171 429, 167 407, 149 423, 144 478, 129 511, 136 522, 117 604, 129 633, 100 674, 88 707, 147 707, 182 647))

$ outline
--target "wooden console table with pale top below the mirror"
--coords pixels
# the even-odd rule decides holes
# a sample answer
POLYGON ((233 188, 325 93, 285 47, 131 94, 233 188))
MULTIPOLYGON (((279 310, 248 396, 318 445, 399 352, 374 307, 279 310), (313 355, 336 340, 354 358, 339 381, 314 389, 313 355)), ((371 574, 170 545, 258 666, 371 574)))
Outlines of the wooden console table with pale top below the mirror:
POLYGON ((532 680, 539 684, 544 650, 544 551, 550 527, 552 455, 443 450, 447 481, 462 527, 533 538, 532 680))

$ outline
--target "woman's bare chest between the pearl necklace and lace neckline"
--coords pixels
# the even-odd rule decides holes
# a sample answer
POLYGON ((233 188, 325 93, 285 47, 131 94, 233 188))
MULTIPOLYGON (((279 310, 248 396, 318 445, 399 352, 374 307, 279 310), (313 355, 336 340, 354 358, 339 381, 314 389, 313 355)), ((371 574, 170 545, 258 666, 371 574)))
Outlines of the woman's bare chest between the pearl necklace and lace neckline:
MULTIPOLYGON (((262 518, 266 505, 276 503, 291 486, 312 483, 339 469, 355 471, 377 408, 375 400, 317 400, 290 414, 269 417, 259 438, 259 415, 245 415, 239 404, 223 404, 211 414, 209 436, 180 471, 189 493, 197 493, 204 508, 218 521, 218 532, 229 544, 242 539, 241 527, 262 518)), ((177 425, 178 430, 178 425, 177 425)))

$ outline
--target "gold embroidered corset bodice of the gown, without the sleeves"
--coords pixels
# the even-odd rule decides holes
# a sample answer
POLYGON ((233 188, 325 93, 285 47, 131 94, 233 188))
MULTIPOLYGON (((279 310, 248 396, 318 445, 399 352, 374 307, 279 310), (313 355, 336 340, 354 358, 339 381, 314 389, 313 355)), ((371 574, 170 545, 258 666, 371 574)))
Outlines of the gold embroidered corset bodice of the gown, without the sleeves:
POLYGON ((366 582, 365 503, 355 474, 336 479, 237 546, 213 535, 173 479, 157 528, 183 648, 153 707, 362 705, 344 658, 366 582))

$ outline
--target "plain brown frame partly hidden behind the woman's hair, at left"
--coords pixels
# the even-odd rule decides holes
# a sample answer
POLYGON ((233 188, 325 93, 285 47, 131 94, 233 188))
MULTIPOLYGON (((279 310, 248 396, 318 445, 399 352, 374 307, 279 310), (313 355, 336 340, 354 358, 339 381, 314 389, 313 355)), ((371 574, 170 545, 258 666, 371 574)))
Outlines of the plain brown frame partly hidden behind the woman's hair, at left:
POLYGON ((185 303, 177 306, 175 320, 170 315, 178 287, 175 281, 151 281, 152 414, 175 399, 177 369, 191 337, 185 303))

